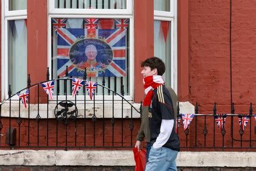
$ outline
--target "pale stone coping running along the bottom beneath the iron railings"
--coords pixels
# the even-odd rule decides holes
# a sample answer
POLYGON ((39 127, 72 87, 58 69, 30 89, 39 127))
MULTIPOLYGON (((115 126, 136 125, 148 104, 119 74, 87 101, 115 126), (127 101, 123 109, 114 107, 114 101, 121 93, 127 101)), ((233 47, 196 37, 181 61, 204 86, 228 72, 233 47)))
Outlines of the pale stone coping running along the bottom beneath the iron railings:
MULTIPOLYGON (((256 168, 256 152, 179 152, 179 167, 256 168)), ((134 166, 131 150, 0 150, 0 165, 134 166)))

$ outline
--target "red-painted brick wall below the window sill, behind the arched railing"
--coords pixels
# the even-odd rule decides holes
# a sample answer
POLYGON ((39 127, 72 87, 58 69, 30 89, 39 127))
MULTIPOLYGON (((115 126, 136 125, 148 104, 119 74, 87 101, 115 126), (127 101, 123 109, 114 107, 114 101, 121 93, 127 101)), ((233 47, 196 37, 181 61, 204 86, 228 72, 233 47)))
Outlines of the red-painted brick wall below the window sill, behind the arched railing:
MULTIPOLYGON (((17 124, 17 118, 12 118, 9 124, 9 118, 2 117, 1 123, 3 128, 0 130, 0 146, 9 147, 6 144, 6 130, 9 129, 9 125, 16 129, 16 147, 61 147, 62 149, 66 145, 69 147, 122 147, 122 120, 115 119, 115 124, 112 127, 111 119, 105 119, 104 127, 103 120, 97 119, 94 122, 91 119, 78 119, 77 122, 65 124, 58 122, 56 119, 48 120, 48 145, 47 145, 47 120, 41 119, 37 122, 35 119, 22 119, 22 123, 17 124), (29 123, 30 122, 30 123, 29 123), (29 129, 30 124, 30 129, 29 129), (113 128, 113 129, 112 129, 113 128), (66 133, 67 130, 67 133, 66 133), (103 135, 104 145, 103 145, 103 135), (57 140, 58 138, 58 140, 57 140), (113 140, 112 140, 113 138, 113 140), (28 143, 29 142, 29 143, 28 143), (39 142, 39 144, 37 144, 39 142), (58 142, 58 145, 56 143, 58 142), (95 144, 94 144, 95 143, 95 144), (112 144, 113 143, 113 144, 112 144)), ((133 119, 133 131, 130 130, 130 119, 123 119, 123 147, 130 147, 131 137, 132 143, 136 142, 137 131, 140 128, 140 120, 133 119)), ((43 148, 44 149, 44 148, 43 148)), ((54 148, 58 149, 58 148, 54 148)), ((70 148, 69 148, 70 149, 70 148)))

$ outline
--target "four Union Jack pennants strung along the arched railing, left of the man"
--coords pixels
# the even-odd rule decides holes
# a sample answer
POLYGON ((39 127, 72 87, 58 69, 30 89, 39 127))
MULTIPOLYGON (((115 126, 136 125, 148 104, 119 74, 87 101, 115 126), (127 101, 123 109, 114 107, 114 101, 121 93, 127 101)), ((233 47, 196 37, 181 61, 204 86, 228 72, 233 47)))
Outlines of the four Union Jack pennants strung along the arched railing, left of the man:
MULTIPOLYGON (((55 80, 41 83, 42 88, 44 89, 50 100, 54 98, 54 81, 55 80)), ((85 85, 87 93, 92 100, 95 94, 95 90, 97 89, 97 83, 95 83, 94 81, 85 81, 83 79, 77 78, 72 79, 72 97, 74 97, 74 95, 79 92, 80 88, 83 87, 83 85, 85 85)), ((17 95, 20 101, 22 101, 24 108, 27 109, 27 102, 29 101, 29 89, 26 89, 23 92, 18 92, 17 95)))

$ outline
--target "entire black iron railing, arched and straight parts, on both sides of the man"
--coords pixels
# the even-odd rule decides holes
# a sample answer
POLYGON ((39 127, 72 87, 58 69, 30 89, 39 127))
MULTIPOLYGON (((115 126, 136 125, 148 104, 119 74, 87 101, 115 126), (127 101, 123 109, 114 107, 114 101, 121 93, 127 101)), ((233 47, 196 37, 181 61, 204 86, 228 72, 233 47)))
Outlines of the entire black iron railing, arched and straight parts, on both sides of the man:
MULTIPOLYGON (((30 75, 27 81, 29 90, 27 109, 24 109, 16 94, 12 94, 9 85, 9 98, 0 104, 0 148, 131 148, 136 141, 140 128, 140 104, 134 107, 124 98, 123 85, 120 94, 97 84, 102 95, 89 99, 86 87, 74 98, 72 77, 55 79, 55 98, 49 100, 42 91, 41 83, 31 85, 30 75), (59 85, 64 84, 64 95, 59 95, 59 85), (70 85, 69 88, 67 85, 70 85), (138 110, 138 108, 140 108, 138 110)), ((83 80, 87 80, 86 72, 83 80)), ((90 80, 90 78, 89 78, 90 80)), ((96 92, 97 93, 97 92, 96 92)), ((248 115, 235 114, 234 104, 231 113, 226 113, 225 125, 219 129, 215 116, 219 113, 214 104, 211 114, 199 113, 195 105, 194 118, 184 130, 179 103, 177 106, 177 134, 182 150, 250 150, 256 149, 253 105, 250 104, 248 115), (243 129, 238 118, 247 116, 248 123, 243 129)), ((184 114, 184 113, 183 113, 184 114)), ((222 115, 224 116, 224 115, 222 115)), ((224 117, 222 117, 224 121, 224 117)))

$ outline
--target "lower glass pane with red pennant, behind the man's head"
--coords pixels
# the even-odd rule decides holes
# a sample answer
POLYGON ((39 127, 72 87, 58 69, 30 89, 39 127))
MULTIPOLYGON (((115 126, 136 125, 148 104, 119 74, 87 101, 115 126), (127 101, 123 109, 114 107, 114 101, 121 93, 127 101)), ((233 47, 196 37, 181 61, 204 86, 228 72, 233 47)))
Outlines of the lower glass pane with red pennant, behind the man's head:
POLYGON ((154 56, 161 58, 165 62, 165 79, 166 85, 171 84, 171 31, 170 22, 154 20, 154 56))

